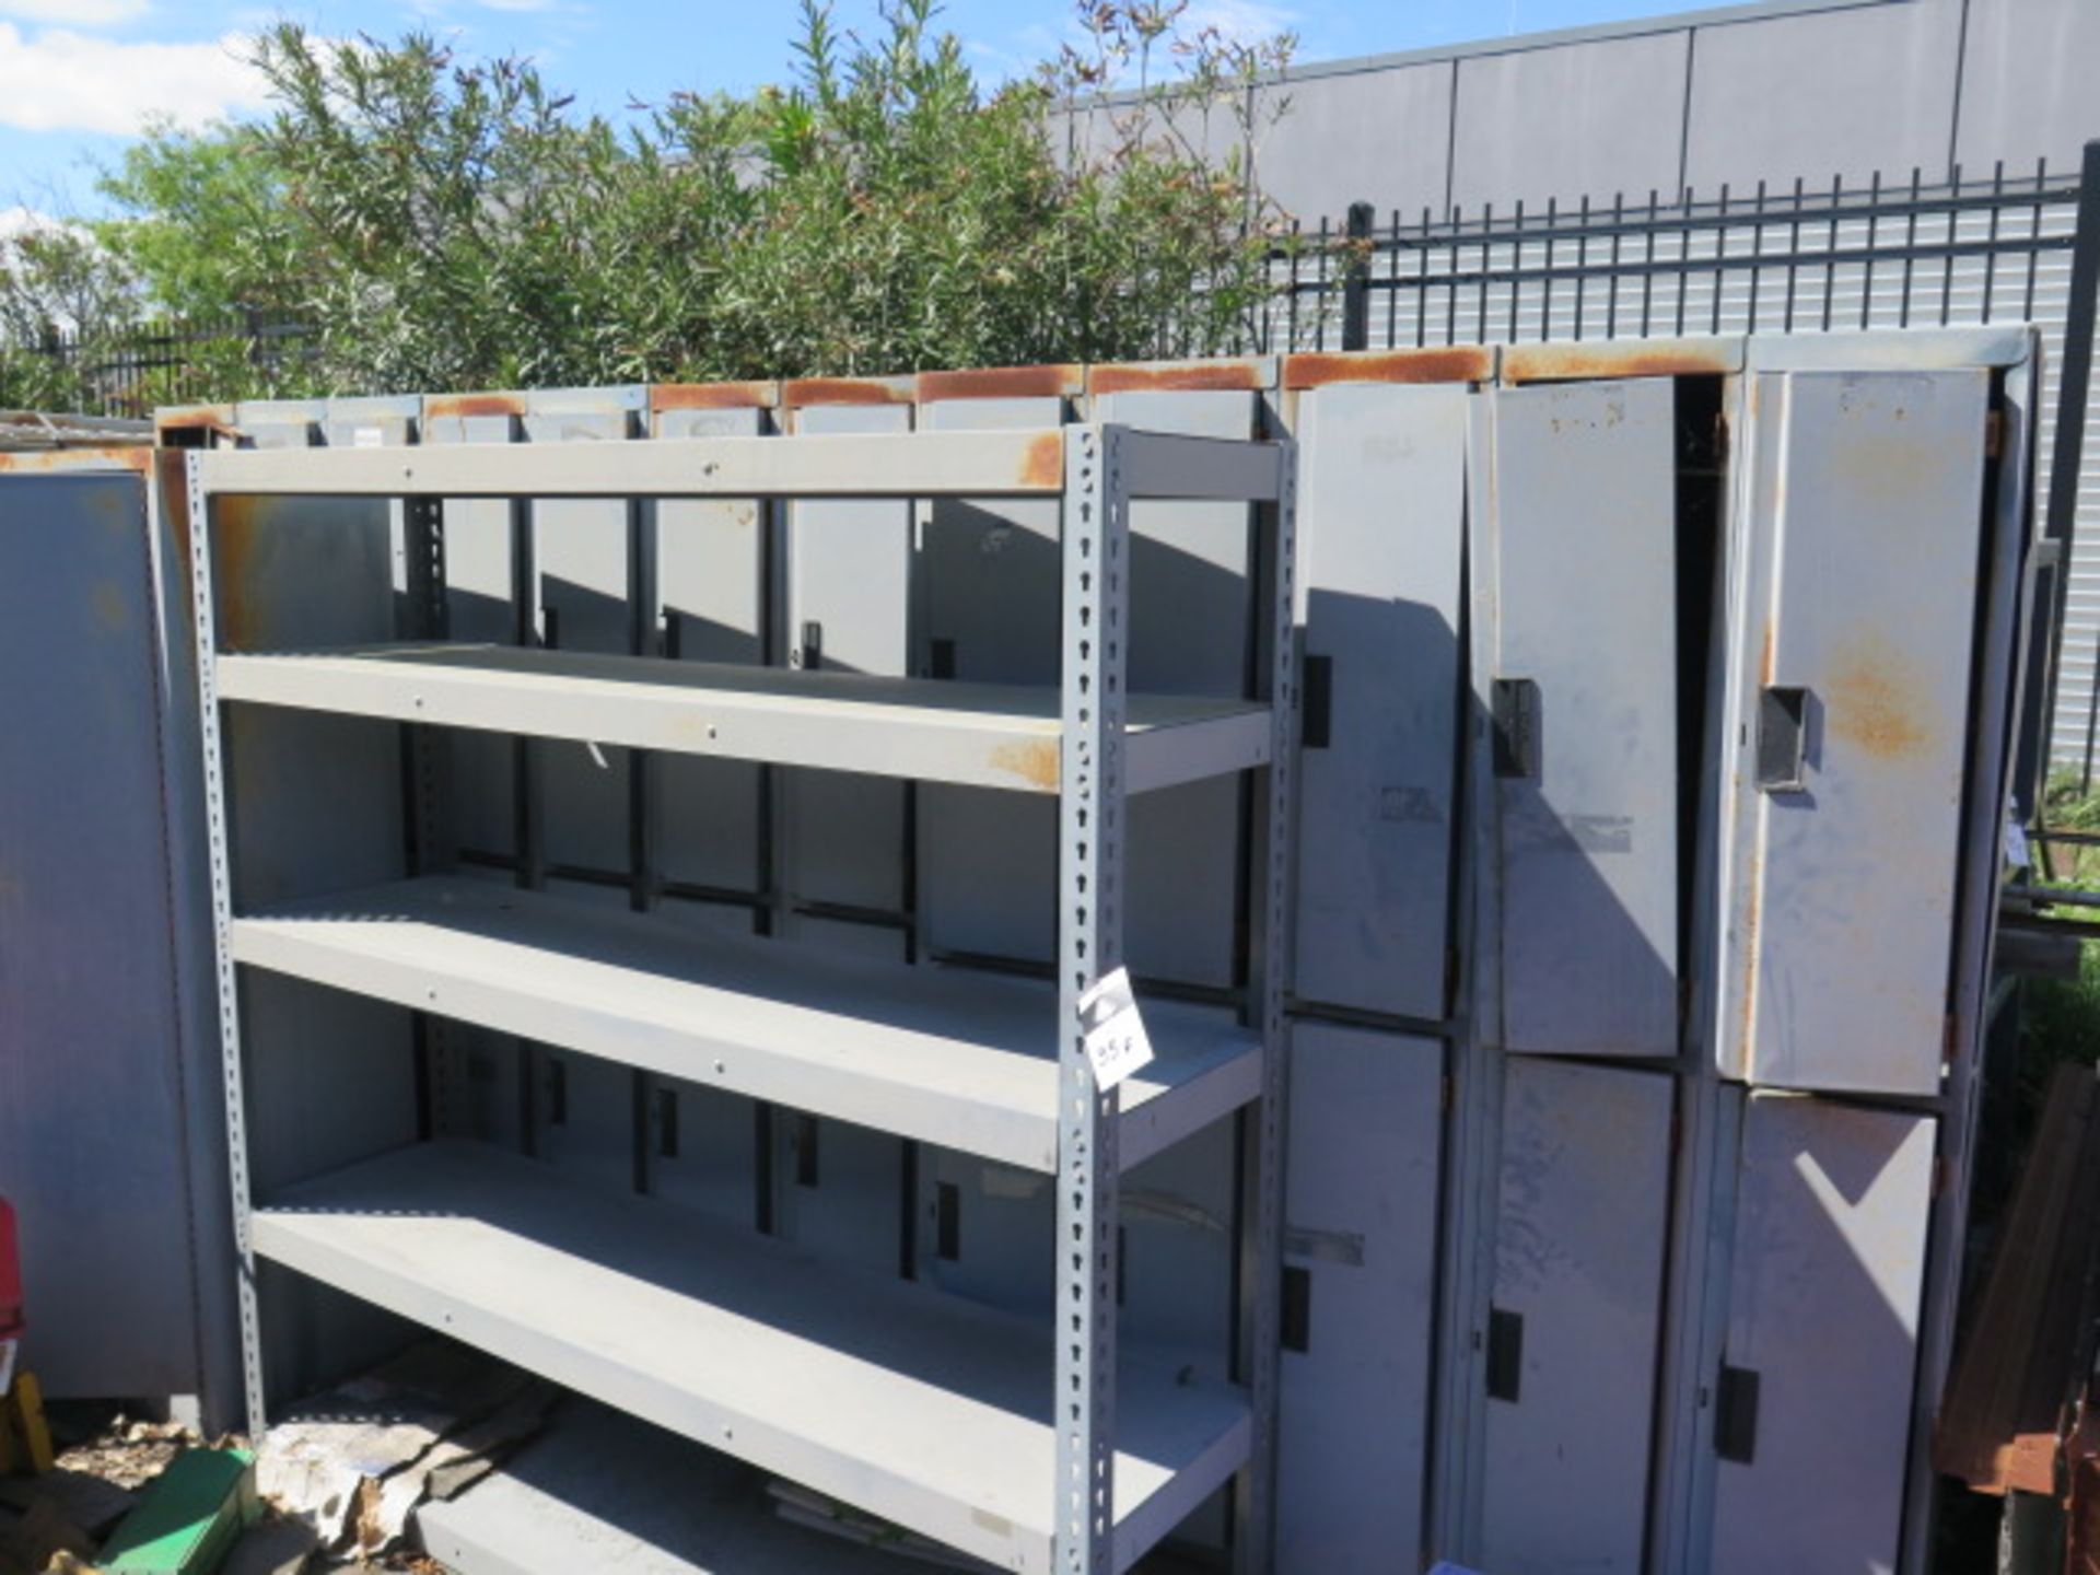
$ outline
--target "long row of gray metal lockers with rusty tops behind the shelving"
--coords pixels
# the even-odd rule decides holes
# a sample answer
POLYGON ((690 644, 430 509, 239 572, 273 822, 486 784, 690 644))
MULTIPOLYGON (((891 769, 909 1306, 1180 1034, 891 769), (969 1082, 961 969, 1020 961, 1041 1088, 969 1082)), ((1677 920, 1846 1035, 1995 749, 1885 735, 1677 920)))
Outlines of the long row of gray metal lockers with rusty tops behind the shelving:
MULTIPOLYGON (((777 403, 244 405, 164 437, 647 441, 1082 412, 1292 430, 1308 662, 1279 1569, 1384 1571, 1420 1548, 1495 1575, 1856 1571, 1919 1552, 1907 1462, 1959 1266, 2026 357, 2024 336, 1970 334, 1512 351, 1499 376, 1493 353, 1052 368, 777 403)), ((452 502, 447 632, 1040 680, 1054 529, 1010 502, 452 502)), ((256 506, 220 531, 231 645, 393 634, 349 622, 340 590, 410 584, 399 510, 256 506)), ((1237 691, 1239 510, 1144 504, 1134 531, 1132 685, 1237 691)), ((355 830, 328 846, 258 827, 242 901, 393 874, 401 781, 370 771, 386 750, 344 743, 359 727, 233 729, 235 775, 271 783, 246 802, 370 808, 346 804, 355 830)), ((640 876, 670 924, 1048 956, 1050 819, 995 794, 462 739, 449 811, 449 855, 491 880, 624 905, 640 876)), ((1247 966, 1243 815, 1218 785, 1134 804, 1134 968, 1220 1010, 1247 966)), ((292 1014, 304 1044, 294 1079, 250 1090, 281 1102, 256 1121, 275 1144, 258 1186, 414 1136, 416 1090, 374 1086, 372 1044, 405 1031, 386 1008, 258 976, 244 1012, 292 1014)), ((433 1048, 441 1130, 958 1294, 1048 1296, 1035 1178, 458 1027, 433 1048)), ((1228 1361, 1237 1208, 1228 1124, 1128 1178, 1134 1338, 1228 1361)), ((340 1344, 315 1308, 284 1331, 309 1357, 340 1344)), ((1224 1522, 1214 1506, 1189 1535, 1224 1522)))

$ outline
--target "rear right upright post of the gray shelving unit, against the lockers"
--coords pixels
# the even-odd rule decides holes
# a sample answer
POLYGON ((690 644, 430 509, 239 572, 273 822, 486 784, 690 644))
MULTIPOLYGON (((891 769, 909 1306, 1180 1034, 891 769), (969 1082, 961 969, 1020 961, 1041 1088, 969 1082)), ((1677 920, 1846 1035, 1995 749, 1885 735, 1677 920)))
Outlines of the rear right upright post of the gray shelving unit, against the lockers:
POLYGON ((1283 1021, 1292 962, 1292 788, 1298 769, 1298 445, 1283 441, 1277 502, 1268 519, 1268 769, 1256 773, 1256 857, 1250 882, 1247 1025, 1262 1037, 1262 1096, 1247 1166, 1247 1228, 1241 1243, 1241 1376, 1252 1390, 1254 1438, 1235 1493, 1233 1562, 1266 1575, 1275 1558, 1277 1388, 1283 1361, 1283 1138, 1289 1100, 1289 1027, 1283 1021))

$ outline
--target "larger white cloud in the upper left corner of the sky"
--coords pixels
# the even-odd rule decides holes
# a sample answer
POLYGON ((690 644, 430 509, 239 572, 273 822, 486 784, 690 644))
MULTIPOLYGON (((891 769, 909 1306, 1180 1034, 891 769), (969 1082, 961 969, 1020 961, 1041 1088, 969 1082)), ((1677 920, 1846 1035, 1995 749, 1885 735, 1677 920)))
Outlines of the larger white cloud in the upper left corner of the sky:
POLYGON ((0 21, 0 126, 134 134, 149 116, 181 126, 267 101, 248 40, 120 44, 61 27, 34 38, 0 21))

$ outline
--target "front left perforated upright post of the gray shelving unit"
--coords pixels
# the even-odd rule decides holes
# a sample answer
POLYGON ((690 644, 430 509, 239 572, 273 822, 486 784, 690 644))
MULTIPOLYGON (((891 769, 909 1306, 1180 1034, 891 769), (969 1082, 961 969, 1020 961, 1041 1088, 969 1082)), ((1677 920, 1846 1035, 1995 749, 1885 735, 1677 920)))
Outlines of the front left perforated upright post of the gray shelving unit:
POLYGON ((189 504, 189 588, 197 617, 197 720, 204 743, 204 815, 212 863, 212 962, 218 985, 218 1046, 227 1077, 227 1191, 233 1201, 235 1287, 242 1319, 242 1390, 248 1405, 248 1434, 260 1436, 262 1415, 262 1325, 256 1315, 254 1222, 248 1195, 248 1100, 242 1090, 242 1016, 233 983, 233 848, 227 813, 225 748, 218 729, 218 636, 212 588, 214 504, 204 491, 197 454, 185 458, 189 504))

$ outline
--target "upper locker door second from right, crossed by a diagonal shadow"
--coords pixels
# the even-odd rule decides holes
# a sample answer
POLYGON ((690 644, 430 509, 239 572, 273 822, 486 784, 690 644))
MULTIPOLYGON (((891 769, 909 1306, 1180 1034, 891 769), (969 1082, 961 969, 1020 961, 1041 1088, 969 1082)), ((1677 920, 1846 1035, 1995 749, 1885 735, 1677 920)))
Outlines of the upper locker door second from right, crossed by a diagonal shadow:
POLYGON ((1674 384, 1493 395, 1476 584, 1508 1050, 1678 1037, 1674 384))

